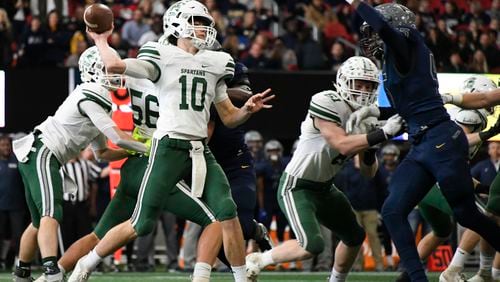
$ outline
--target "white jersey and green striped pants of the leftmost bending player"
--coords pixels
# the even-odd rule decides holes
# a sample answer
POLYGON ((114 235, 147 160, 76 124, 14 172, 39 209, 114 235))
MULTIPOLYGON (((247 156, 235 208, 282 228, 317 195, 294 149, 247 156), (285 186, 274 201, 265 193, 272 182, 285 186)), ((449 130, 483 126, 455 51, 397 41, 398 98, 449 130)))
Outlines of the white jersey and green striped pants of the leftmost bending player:
POLYGON ((109 117, 108 90, 99 84, 83 83, 73 90, 54 116, 38 125, 34 133, 14 143, 35 227, 44 216, 59 222, 62 219, 63 182, 71 183, 66 182, 67 177, 61 177, 61 164, 77 157, 90 143, 94 149, 106 148, 106 138, 91 120, 92 112, 89 116, 82 109, 86 101, 91 101, 92 106, 98 105, 109 117))

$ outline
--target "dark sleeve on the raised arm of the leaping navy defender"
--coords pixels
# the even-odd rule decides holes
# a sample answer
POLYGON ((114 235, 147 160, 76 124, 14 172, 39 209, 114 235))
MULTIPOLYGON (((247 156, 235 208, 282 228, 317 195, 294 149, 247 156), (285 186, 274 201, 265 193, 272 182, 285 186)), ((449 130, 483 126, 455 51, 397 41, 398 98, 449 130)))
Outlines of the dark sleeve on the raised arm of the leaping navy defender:
POLYGON ((356 11, 375 30, 384 43, 394 52, 394 58, 400 66, 411 65, 411 43, 407 37, 392 27, 384 17, 370 5, 361 2, 356 11))

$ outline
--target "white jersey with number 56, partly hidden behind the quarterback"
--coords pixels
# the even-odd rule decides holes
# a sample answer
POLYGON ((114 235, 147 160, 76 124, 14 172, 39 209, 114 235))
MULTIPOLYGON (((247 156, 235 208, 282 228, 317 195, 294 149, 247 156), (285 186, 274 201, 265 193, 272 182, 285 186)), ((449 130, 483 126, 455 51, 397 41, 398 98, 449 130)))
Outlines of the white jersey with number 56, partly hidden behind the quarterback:
POLYGON ((132 111, 134 112, 134 127, 144 138, 152 138, 158 121, 159 104, 158 89, 148 79, 128 77, 125 86, 130 94, 132 111))

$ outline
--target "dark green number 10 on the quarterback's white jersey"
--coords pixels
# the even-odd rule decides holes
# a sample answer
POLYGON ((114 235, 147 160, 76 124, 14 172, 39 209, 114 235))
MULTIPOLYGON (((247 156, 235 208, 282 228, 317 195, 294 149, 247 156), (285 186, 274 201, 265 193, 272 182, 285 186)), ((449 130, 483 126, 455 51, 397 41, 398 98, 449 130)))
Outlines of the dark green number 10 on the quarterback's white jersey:
MULTIPOLYGON (((187 90, 187 76, 183 75, 179 78, 181 84, 181 103, 179 104, 180 110, 189 110, 188 104, 188 90, 187 90)), ((205 109, 205 95, 207 94, 207 81, 203 77, 194 76, 191 79, 191 108, 197 112, 205 109), (200 103, 196 102, 196 96, 200 95, 200 103)))

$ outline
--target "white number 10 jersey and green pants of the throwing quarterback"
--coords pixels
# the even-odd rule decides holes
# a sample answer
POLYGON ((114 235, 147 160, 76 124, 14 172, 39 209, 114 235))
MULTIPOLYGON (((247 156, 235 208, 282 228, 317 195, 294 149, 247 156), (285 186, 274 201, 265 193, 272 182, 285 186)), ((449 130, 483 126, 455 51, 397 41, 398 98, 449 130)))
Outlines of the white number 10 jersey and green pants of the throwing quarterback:
POLYGON ((224 52, 199 50, 193 55, 157 42, 142 46, 138 59, 152 63, 159 72, 153 81, 159 91, 159 118, 149 166, 131 218, 136 232, 141 235, 152 230, 176 183, 191 178, 195 163, 191 156, 201 150, 205 163, 196 162, 195 166, 195 171, 206 168, 200 199, 217 220, 234 218, 236 205, 227 178, 204 144, 210 105, 228 99, 225 80, 233 76, 233 59, 224 52))

